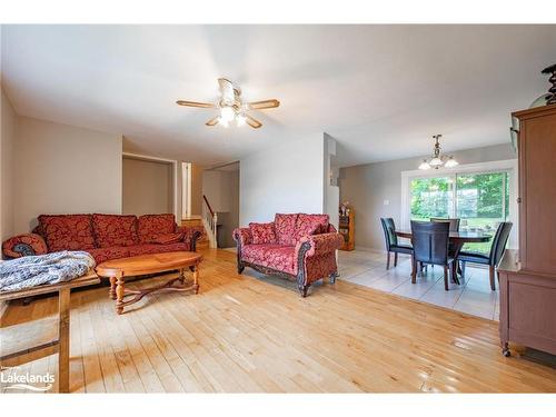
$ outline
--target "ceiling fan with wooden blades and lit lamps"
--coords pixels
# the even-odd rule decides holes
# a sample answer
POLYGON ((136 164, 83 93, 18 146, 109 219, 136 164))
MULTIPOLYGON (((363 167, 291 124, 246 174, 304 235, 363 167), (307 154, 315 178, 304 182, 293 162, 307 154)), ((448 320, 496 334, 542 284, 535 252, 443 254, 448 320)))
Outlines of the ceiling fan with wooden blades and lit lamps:
POLYGON ((241 101, 241 90, 239 87, 234 86, 234 83, 226 79, 219 78, 218 85, 220 87, 220 100, 217 103, 210 102, 197 102, 178 100, 176 101, 179 106, 186 107, 200 107, 203 109, 219 109, 220 115, 214 117, 205 125, 216 126, 220 125, 227 128, 231 121, 236 121, 237 126, 249 125, 254 129, 258 129, 262 126, 260 121, 249 116, 247 112, 250 110, 262 110, 271 109, 280 106, 280 102, 276 99, 246 102, 241 101))

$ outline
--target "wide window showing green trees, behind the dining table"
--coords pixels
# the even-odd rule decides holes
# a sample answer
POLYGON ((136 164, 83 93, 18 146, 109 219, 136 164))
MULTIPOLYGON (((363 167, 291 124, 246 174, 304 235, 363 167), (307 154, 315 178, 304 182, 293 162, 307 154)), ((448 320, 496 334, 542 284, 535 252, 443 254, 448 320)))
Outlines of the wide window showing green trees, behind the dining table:
MULTIPOLYGON (((409 178, 409 218, 457 217, 460 230, 494 235, 509 219, 509 177, 504 170, 409 178)), ((490 242, 468 244, 464 250, 487 254, 490 242)))

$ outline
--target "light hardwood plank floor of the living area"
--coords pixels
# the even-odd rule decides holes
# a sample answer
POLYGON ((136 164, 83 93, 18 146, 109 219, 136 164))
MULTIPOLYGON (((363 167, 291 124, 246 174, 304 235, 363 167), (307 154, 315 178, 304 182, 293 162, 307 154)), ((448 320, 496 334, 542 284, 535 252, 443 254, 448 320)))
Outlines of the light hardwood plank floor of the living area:
MULTIPOLYGON (((294 284, 238 276, 230 251, 203 252, 197 296, 155 295, 117 316, 108 288, 72 294, 71 391, 556 391, 555 369, 502 356, 492 320, 341 280, 300 298, 294 284)), ((56 298, 12 304, 1 327, 54 311, 56 298)), ((54 374, 57 360, 19 371, 54 374)))

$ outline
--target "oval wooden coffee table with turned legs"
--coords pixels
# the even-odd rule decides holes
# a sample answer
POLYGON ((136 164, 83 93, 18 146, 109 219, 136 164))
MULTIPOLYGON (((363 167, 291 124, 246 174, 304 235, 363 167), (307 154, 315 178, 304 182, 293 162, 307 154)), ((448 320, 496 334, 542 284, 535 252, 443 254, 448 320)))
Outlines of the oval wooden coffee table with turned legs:
POLYGON ((166 252, 153 255, 141 255, 130 258, 112 259, 97 266, 96 271, 100 277, 110 279, 109 297, 116 300, 116 312, 121 315, 123 307, 130 306, 147 294, 157 291, 195 291, 199 292, 199 264, 202 256, 196 252, 166 252), (179 276, 166 284, 142 288, 140 290, 126 289, 126 279, 138 275, 157 274, 170 270, 179 270, 179 276), (185 270, 189 269, 193 275, 193 282, 186 286, 185 270), (178 282, 180 285, 175 285, 178 282), (133 298, 125 300, 125 297, 133 298))

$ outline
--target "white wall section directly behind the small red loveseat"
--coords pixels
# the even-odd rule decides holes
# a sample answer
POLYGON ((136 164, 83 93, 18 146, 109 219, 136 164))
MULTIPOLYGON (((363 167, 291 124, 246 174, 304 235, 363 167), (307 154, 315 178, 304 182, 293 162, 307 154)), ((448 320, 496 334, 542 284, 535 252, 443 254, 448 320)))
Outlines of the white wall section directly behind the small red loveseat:
POLYGON ((324 151, 318 133, 242 158, 239 224, 272 221, 277 212, 321 214, 324 151))

